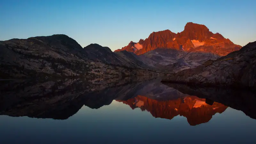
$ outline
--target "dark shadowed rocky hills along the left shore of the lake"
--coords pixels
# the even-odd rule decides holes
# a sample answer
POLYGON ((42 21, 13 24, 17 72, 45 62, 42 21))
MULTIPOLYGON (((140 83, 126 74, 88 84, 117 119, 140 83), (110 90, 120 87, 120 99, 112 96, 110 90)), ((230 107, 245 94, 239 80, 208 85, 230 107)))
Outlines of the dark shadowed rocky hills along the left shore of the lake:
POLYGON ((130 52, 90 44, 82 48, 66 35, 0 41, 0 78, 154 75, 130 52))

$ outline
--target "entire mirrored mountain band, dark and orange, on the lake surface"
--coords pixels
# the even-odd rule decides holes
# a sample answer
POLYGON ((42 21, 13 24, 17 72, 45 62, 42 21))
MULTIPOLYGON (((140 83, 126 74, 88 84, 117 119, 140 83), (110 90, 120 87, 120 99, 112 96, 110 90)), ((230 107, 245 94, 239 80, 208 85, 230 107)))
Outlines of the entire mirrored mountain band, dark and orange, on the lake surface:
POLYGON ((156 118, 184 116, 190 125, 207 123, 228 107, 256 118, 253 92, 162 84, 160 80, 148 76, 1 81, 0 115, 68 119, 84 105, 98 109, 116 100, 156 118))

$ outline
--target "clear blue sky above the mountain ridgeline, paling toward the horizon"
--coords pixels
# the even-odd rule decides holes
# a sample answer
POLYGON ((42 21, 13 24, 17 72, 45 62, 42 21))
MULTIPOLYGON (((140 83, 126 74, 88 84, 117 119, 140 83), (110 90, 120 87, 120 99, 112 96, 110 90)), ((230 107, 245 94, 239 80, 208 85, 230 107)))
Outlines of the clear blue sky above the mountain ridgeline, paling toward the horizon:
POLYGON ((112 51, 153 31, 204 24, 235 44, 256 40, 255 0, 1 0, 0 40, 65 34, 112 51))

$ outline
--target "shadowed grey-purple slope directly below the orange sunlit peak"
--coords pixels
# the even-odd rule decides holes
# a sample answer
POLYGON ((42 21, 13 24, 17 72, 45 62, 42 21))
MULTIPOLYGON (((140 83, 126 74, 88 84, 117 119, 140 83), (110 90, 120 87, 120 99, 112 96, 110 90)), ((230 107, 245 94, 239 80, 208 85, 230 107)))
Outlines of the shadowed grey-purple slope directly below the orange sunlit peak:
MULTIPOLYGON (((123 51, 121 51, 123 52, 123 51)), ((216 60, 220 56, 205 52, 184 52, 174 49, 157 48, 138 55, 141 61, 162 73, 174 73, 183 69, 194 68, 207 60, 216 60)))

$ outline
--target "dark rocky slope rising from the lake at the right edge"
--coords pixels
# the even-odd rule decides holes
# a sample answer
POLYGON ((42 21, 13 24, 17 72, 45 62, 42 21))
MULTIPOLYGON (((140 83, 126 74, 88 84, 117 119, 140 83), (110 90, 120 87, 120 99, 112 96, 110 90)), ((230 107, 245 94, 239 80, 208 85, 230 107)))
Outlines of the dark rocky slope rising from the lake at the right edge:
POLYGON ((172 74, 163 79, 163 82, 255 89, 256 41, 217 60, 208 60, 196 68, 172 74))

